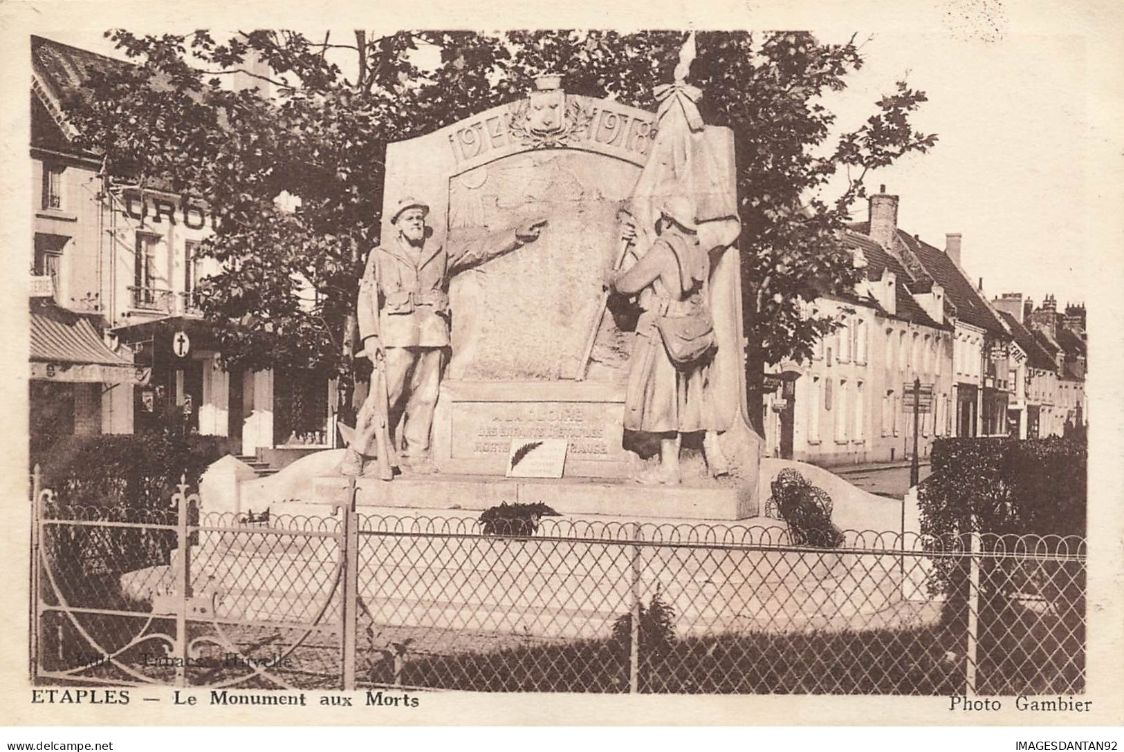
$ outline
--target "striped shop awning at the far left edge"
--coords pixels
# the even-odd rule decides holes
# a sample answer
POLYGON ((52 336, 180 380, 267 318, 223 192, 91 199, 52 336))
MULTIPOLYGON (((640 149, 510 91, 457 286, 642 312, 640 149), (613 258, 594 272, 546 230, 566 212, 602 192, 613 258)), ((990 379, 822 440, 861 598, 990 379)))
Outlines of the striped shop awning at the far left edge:
POLYGON ((137 368, 101 341, 84 317, 54 305, 31 309, 31 378, 48 382, 145 384, 147 368, 137 368))

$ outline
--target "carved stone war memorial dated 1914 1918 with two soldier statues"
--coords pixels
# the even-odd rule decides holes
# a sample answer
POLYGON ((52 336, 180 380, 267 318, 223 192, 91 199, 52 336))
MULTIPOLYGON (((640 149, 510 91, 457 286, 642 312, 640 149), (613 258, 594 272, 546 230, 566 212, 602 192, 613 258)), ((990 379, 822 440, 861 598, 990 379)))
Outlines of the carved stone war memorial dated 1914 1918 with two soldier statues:
POLYGON ((656 112, 544 75, 524 99, 388 145, 382 244, 357 295, 356 349, 377 361, 359 430, 342 425, 347 449, 269 478, 229 459, 205 505, 297 511, 338 502, 355 477, 359 505, 404 512, 544 503, 745 520, 790 465, 872 502, 819 468, 761 458, 746 419, 733 134, 703 122, 690 62, 685 52, 658 88, 656 112), (708 345, 672 364, 656 318, 708 345), (652 418, 660 405, 676 414, 652 418))

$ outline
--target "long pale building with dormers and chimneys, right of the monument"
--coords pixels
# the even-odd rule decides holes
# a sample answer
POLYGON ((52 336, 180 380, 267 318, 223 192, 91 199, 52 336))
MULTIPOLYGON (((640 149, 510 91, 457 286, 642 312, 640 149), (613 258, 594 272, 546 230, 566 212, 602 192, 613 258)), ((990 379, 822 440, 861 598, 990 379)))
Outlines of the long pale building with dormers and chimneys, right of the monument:
POLYGON ((897 226, 898 196, 870 198, 868 221, 843 240, 863 268, 853 295, 821 297, 810 315, 840 322, 807 363, 767 376, 765 450, 825 467, 895 461, 945 435, 1007 435, 1026 359, 999 313, 960 266, 960 236, 944 250, 897 226), (771 389, 768 387, 772 387, 771 389))

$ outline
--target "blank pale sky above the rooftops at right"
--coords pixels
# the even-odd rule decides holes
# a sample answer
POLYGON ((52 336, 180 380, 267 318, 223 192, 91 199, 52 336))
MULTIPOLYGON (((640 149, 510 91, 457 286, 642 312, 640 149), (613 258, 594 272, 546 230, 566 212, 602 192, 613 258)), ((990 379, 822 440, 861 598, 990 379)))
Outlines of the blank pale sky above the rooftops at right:
MULTIPOLYGON (((945 13, 943 26, 926 34, 859 31, 865 65, 826 103, 839 129, 852 129, 897 80, 925 91, 930 101, 914 122, 937 134, 935 148, 871 173, 869 189, 886 184, 898 194, 899 226, 931 245, 943 248, 946 232, 961 232, 962 264, 973 283, 984 278, 988 296, 1023 292, 1039 302, 1053 293, 1059 305, 1084 301, 1098 269, 1088 231, 1096 184, 1087 181, 1086 147, 1105 137, 1090 117, 1086 37, 1067 33, 1064 24, 1016 36, 1005 31, 1010 19, 1001 12, 994 20, 995 28, 964 33, 945 13)), ((307 33, 323 37, 318 29, 307 33)), ((116 55, 100 29, 44 34, 116 55)), ((850 33, 818 35, 844 42, 850 33)), ((351 38, 346 29, 333 33, 333 40, 351 38)), ((864 205, 853 211, 865 219, 864 205)))

